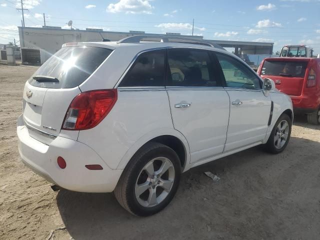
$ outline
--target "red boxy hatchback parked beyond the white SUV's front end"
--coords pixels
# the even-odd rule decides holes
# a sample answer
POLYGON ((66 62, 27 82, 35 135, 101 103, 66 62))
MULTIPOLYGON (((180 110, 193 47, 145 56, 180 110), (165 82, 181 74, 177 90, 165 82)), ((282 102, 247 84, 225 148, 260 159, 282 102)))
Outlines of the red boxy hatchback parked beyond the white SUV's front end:
POLYGON ((264 58, 257 73, 271 78, 279 91, 290 95, 295 113, 306 114, 311 124, 320 124, 320 58, 264 58))

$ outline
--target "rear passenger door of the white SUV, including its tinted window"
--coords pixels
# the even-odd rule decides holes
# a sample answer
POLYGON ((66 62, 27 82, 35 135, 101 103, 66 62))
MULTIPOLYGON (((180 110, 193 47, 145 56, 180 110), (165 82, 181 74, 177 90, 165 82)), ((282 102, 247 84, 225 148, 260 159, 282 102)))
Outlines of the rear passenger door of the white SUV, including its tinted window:
POLYGON ((229 97, 206 50, 167 50, 166 90, 174 128, 187 139, 191 162, 222 153, 229 97))

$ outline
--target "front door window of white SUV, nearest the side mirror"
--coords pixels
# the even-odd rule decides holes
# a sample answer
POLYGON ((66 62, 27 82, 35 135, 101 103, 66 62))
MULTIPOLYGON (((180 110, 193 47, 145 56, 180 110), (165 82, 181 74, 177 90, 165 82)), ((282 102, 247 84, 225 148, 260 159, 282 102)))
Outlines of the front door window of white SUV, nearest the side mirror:
POLYGON ((227 87, 261 88, 259 78, 243 63, 231 56, 216 53, 227 87))

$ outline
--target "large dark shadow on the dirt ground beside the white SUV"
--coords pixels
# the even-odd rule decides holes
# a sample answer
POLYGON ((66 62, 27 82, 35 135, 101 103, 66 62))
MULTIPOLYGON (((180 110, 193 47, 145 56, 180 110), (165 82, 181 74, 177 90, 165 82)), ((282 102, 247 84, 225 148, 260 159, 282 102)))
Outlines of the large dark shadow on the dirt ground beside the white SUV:
POLYGON ((316 184, 320 175, 312 172, 320 167, 319 149, 319 142, 291 137, 287 148, 277 155, 253 147, 192 168, 181 175, 172 202, 149 217, 131 215, 112 193, 61 189, 56 201, 75 240, 314 239, 320 234, 316 226, 320 214, 313 214, 318 202, 308 190, 312 188, 312 194, 320 197, 316 184), (204 171, 217 174, 220 180, 213 182, 204 171), (301 204, 309 210, 301 210, 301 204), (301 230, 304 224, 305 232, 301 230), (313 231, 307 227, 314 227, 313 231))

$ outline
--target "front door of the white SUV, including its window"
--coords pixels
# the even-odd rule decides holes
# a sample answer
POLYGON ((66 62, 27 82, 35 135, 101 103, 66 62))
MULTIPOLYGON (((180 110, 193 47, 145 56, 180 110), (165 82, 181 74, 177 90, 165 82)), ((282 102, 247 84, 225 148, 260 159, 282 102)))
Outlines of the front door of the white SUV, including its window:
POLYGON ((265 96, 258 76, 243 62, 216 53, 230 98, 230 116, 224 152, 265 138, 271 100, 265 96))

